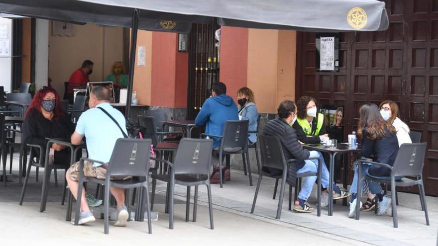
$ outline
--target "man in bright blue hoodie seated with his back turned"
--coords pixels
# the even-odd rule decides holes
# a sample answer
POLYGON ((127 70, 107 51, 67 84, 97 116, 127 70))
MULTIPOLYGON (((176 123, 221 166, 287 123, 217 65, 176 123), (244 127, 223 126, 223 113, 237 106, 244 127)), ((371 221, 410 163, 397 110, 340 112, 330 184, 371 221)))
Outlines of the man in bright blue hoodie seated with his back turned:
MULTIPOLYGON (((210 135, 222 135, 223 125, 227 120, 239 120, 237 106, 233 99, 226 95, 226 85, 222 82, 214 83, 212 96, 202 105, 201 111, 196 116, 195 124, 206 125, 206 133, 210 135)), ((219 149, 220 138, 213 139, 213 149, 219 149)), ((222 159, 223 160, 223 159, 222 159)), ((213 171, 210 182, 219 183, 219 158, 213 155, 213 171)), ((229 170, 222 169, 224 181, 229 180, 229 170)))

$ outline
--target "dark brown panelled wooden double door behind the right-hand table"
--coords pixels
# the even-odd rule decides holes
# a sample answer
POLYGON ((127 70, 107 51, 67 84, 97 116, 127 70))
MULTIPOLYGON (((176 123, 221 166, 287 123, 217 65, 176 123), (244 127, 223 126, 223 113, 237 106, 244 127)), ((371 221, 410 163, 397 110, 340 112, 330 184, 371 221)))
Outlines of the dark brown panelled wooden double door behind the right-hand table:
POLYGON ((364 103, 396 101, 400 118, 427 142, 426 193, 438 196, 438 0, 385 2, 388 30, 339 34, 339 72, 316 72, 316 34, 299 32, 297 99, 343 105, 345 134, 364 103))

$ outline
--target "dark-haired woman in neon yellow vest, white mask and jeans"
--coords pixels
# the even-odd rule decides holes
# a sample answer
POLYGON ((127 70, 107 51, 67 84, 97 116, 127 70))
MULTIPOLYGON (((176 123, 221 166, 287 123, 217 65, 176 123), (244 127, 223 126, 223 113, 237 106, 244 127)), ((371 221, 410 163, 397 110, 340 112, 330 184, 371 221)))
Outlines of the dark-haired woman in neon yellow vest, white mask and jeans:
MULTIPOLYGON (((297 101, 297 120, 292 125, 295 129, 298 140, 304 144, 320 144, 322 137, 329 137, 326 133, 326 125, 324 124, 324 114, 318 113, 316 99, 310 96, 302 96, 297 101)), ((329 204, 329 170, 324 161, 321 152, 312 151, 309 158, 322 159, 321 185, 323 186, 323 196, 321 197, 321 206, 325 207, 329 204)), ((316 161, 318 163, 318 161, 316 161)), ((333 200, 342 199, 349 194, 339 189, 336 184, 333 184, 333 200)))

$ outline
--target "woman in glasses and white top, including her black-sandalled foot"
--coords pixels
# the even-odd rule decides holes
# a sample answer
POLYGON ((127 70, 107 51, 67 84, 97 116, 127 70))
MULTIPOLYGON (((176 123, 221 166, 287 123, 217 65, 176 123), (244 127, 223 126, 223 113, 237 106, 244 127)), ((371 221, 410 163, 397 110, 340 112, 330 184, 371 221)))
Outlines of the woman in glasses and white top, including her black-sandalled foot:
MULTIPOLYGON (((395 127, 397 131, 397 140, 399 142, 399 147, 402 144, 412 144, 411 137, 409 136, 409 126, 406 125, 399 117, 399 106, 395 101, 386 100, 380 103, 380 114, 383 119, 392 123, 392 126, 395 127)), ((375 206, 374 195, 369 192, 368 185, 365 184, 363 188, 363 193, 367 194, 368 199, 362 205, 361 211, 370 211, 375 206)))

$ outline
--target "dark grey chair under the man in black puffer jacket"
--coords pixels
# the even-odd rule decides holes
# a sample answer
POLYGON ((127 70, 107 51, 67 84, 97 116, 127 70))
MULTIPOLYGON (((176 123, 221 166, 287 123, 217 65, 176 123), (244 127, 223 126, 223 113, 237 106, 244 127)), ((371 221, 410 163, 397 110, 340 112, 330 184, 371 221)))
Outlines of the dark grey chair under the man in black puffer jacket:
MULTIPOLYGON (((281 146, 280 140, 278 137, 274 136, 264 136, 259 135, 258 142, 260 145, 260 154, 261 154, 261 172, 259 174, 259 178, 257 181, 257 188, 255 190, 254 194, 254 201, 252 202, 252 208, 251 208, 251 214, 254 213, 255 208, 255 202, 257 200, 258 191, 260 189, 260 184, 262 181, 263 176, 268 176, 275 179, 281 178, 281 188, 280 188, 280 197, 278 201, 278 207, 277 207, 277 216, 276 219, 280 219, 281 216, 281 209, 283 207, 283 197, 284 197, 284 190, 286 186, 286 177, 288 174, 288 166, 291 165, 289 168, 295 168, 295 163, 297 162, 296 159, 290 159, 286 160, 283 153, 283 148, 281 146), (279 171, 279 174, 271 174, 270 172, 263 171, 263 168, 274 168, 275 170, 279 171)), ((318 160, 319 163, 321 163, 321 159, 307 159, 307 160, 318 160)), ((308 177, 308 176, 318 176, 317 182, 318 182, 318 208, 317 213, 318 216, 321 216, 321 170, 322 165, 318 165, 318 172, 306 172, 297 174, 297 182, 296 186, 298 185, 298 179, 302 177, 308 177)), ((291 186, 289 186, 289 206, 291 206, 292 202, 292 189, 291 186)), ((290 208, 289 208, 290 209, 290 208)))

